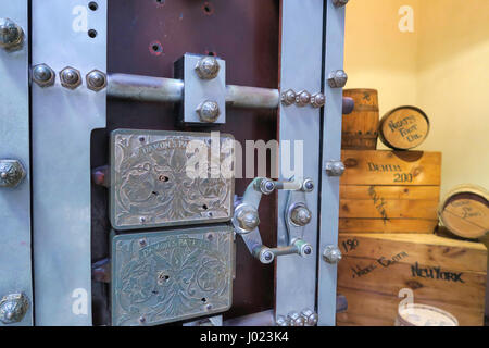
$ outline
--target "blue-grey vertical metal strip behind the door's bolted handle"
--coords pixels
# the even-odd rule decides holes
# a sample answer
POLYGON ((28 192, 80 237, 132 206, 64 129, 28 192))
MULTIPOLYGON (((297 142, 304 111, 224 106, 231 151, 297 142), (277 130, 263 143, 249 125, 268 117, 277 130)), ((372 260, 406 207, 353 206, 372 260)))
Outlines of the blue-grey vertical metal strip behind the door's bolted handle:
MULTIPOLYGON (((323 69, 323 2, 317 0, 281 1, 280 90, 322 90, 323 69), (308 52, 308 54, 304 54, 308 52)), ((284 140, 303 141, 304 177, 319 182, 321 111, 296 104, 279 105, 280 152, 284 140)), ((290 159, 296 163, 296 159, 290 159)), ((297 164, 297 163, 296 163, 297 164)), ((281 177, 289 179, 289 177, 281 177)), ((278 192, 277 245, 287 245, 284 210, 288 192, 278 192)), ((318 231, 318 189, 306 195, 313 220, 304 227, 303 239, 313 247, 310 258, 283 256, 276 261, 275 315, 287 316, 304 309, 314 310, 316 300, 316 256, 318 231)))

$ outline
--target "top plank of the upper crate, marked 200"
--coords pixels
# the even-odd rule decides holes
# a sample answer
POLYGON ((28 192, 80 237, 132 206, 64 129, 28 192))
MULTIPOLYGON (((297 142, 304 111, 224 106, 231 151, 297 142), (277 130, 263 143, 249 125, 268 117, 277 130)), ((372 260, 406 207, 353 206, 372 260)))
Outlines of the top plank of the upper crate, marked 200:
POLYGON ((343 150, 341 185, 440 185, 441 153, 343 150))

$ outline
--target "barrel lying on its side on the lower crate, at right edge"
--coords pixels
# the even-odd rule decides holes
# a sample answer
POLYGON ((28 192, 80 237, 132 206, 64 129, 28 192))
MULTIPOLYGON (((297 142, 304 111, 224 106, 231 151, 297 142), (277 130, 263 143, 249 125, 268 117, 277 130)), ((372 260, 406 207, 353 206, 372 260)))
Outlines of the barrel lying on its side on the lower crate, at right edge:
POLYGON ((476 185, 456 186, 441 200, 438 217, 460 237, 484 237, 489 231, 489 192, 476 185))

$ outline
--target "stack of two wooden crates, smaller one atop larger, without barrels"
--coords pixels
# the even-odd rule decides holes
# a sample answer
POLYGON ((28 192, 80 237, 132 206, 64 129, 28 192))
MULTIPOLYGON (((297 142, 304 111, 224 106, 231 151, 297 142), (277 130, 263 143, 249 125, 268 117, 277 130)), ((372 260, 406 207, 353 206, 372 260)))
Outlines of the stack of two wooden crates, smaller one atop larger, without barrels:
POLYGON ((484 325, 487 249, 435 234, 441 153, 343 150, 338 325, 394 325, 399 304, 429 304, 484 325))

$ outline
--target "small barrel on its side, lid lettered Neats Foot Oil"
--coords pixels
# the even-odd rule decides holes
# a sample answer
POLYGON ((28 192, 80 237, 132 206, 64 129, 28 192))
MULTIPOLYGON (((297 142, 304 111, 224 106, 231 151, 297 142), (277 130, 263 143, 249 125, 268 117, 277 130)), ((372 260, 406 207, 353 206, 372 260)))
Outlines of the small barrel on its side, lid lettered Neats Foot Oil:
POLYGON ((396 150, 414 149, 425 141, 428 133, 429 119, 416 107, 397 108, 380 120, 380 140, 396 150))

